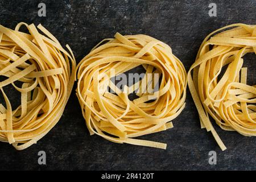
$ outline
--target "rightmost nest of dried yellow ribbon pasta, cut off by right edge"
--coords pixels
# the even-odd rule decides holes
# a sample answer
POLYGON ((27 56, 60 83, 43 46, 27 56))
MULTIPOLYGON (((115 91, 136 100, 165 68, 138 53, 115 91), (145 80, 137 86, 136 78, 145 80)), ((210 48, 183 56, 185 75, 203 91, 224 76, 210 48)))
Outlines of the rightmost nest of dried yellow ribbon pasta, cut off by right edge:
POLYGON ((221 129, 256 135, 256 86, 246 84, 247 68, 242 67, 242 56, 249 52, 256 53, 256 26, 232 24, 204 39, 188 72, 188 86, 201 128, 212 131, 221 150, 226 147, 213 129, 209 114, 221 129), (225 65, 227 69, 223 71, 225 65))

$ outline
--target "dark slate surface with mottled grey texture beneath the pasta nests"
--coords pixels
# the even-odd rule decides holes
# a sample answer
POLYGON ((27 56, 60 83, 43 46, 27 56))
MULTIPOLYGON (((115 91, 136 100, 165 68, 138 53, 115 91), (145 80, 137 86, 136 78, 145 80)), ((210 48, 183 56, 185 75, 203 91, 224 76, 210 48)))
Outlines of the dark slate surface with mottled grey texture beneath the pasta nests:
MULTIPOLYGON (((197 50, 210 32, 232 23, 256 24, 255 0, 233 1, 0 1, 0 23, 14 28, 19 22, 42 23, 64 46, 69 44, 77 63, 103 38, 115 32, 147 34, 166 42, 189 69, 197 50), (38 4, 46 3, 46 17, 38 16, 38 4), (217 4, 217 17, 209 17, 209 3, 217 4)), ((247 57, 248 58, 248 57, 247 57)), ((255 73, 255 55, 246 59, 249 78, 255 73)), ((255 82, 254 82, 255 84, 255 82)), ((212 134, 200 129, 189 92, 187 106, 174 128, 141 139, 167 143, 167 150, 115 144, 89 136, 79 102, 72 93, 59 123, 30 148, 16 151, 0 143, 0 169, 85 170, 196 170, 256 169, 256 138, 222 131, 228 147, 222 152, 212 134), (38 152, 46 151, 47 165, 38 164, 38 152), (209 151, 217 152, 217 164, 208 163, 209 151)))

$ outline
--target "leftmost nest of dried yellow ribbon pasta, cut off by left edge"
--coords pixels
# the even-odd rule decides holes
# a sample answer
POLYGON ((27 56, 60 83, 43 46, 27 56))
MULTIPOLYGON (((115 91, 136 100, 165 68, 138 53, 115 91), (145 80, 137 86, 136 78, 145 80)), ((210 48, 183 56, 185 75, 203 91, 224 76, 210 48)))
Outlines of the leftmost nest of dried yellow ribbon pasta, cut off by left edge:
POLYGON ((59 121, 75 81, 75 58, 46 28, 19 23, 15 30, 0 25, 0 140, 23 150, 44 137, 59 121), (20 32, 26 26, 30 34, 20 32), (70 61, 70 62, 69 62, 70 61), (17 82, 21 82, 21 88, 17 82), (15 110, 6 96, 6 85, 20 92, 15 110))

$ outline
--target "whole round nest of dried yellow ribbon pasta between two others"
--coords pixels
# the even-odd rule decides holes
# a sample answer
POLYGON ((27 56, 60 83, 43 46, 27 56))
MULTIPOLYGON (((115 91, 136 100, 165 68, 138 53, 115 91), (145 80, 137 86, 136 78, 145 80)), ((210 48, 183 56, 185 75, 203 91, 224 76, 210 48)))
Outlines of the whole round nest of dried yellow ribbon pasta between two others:
MULTIPOLYGON (((185 107, 187 75, 167 44, 147 35, 122 36, 117 33, 114 39, 104 39, 94 47, 77 69, 77 97, 91 135, 97 134, 116 143, 166 148, 165 143, 134 137, 170 129, 173 127, 170 121, 185 107), (107 43, 102 44, 104 42, 107 43), (108 89, 100 92, 101 86, 119 89, 112 81, 101 79, 102 75, 110 77, 110 70, 114 69, 114 76, 117 76, 139 65, 146 74, 162 74, 158 91, 137 92, 139 98, 129 100, 128 95, 142 86, 144 76, 134 85, 124 86, 126 92, 113 94, 108 89), (147 102, 156 92, 158 97, 147 102)), ((147 84, 150 85, 149 80, 147 84)))

